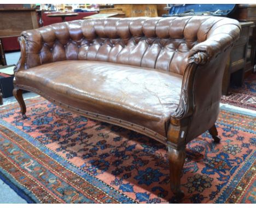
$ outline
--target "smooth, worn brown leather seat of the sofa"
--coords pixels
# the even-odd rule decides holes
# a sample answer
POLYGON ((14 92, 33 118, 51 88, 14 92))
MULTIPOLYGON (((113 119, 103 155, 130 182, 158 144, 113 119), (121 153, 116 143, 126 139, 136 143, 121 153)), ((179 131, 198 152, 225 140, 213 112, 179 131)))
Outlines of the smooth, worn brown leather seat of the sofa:
POLYGON ((137 66, 68 60, 16 73, 16 84, 92 113, 121 119, 166 137, 182 76, 137 66))

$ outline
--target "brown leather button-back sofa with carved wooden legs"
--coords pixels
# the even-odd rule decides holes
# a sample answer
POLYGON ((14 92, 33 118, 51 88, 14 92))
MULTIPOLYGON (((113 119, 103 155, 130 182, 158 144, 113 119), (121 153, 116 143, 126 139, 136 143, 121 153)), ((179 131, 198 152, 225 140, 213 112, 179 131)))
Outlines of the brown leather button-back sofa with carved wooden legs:
POLYGON ((57 23, 21 34, 14 96, 22 90, 69 111, 167 145, 171 190, 183 197, 185 145, 219 112, 226 59, 240 24, 225 17, 138 17, 57 23))

